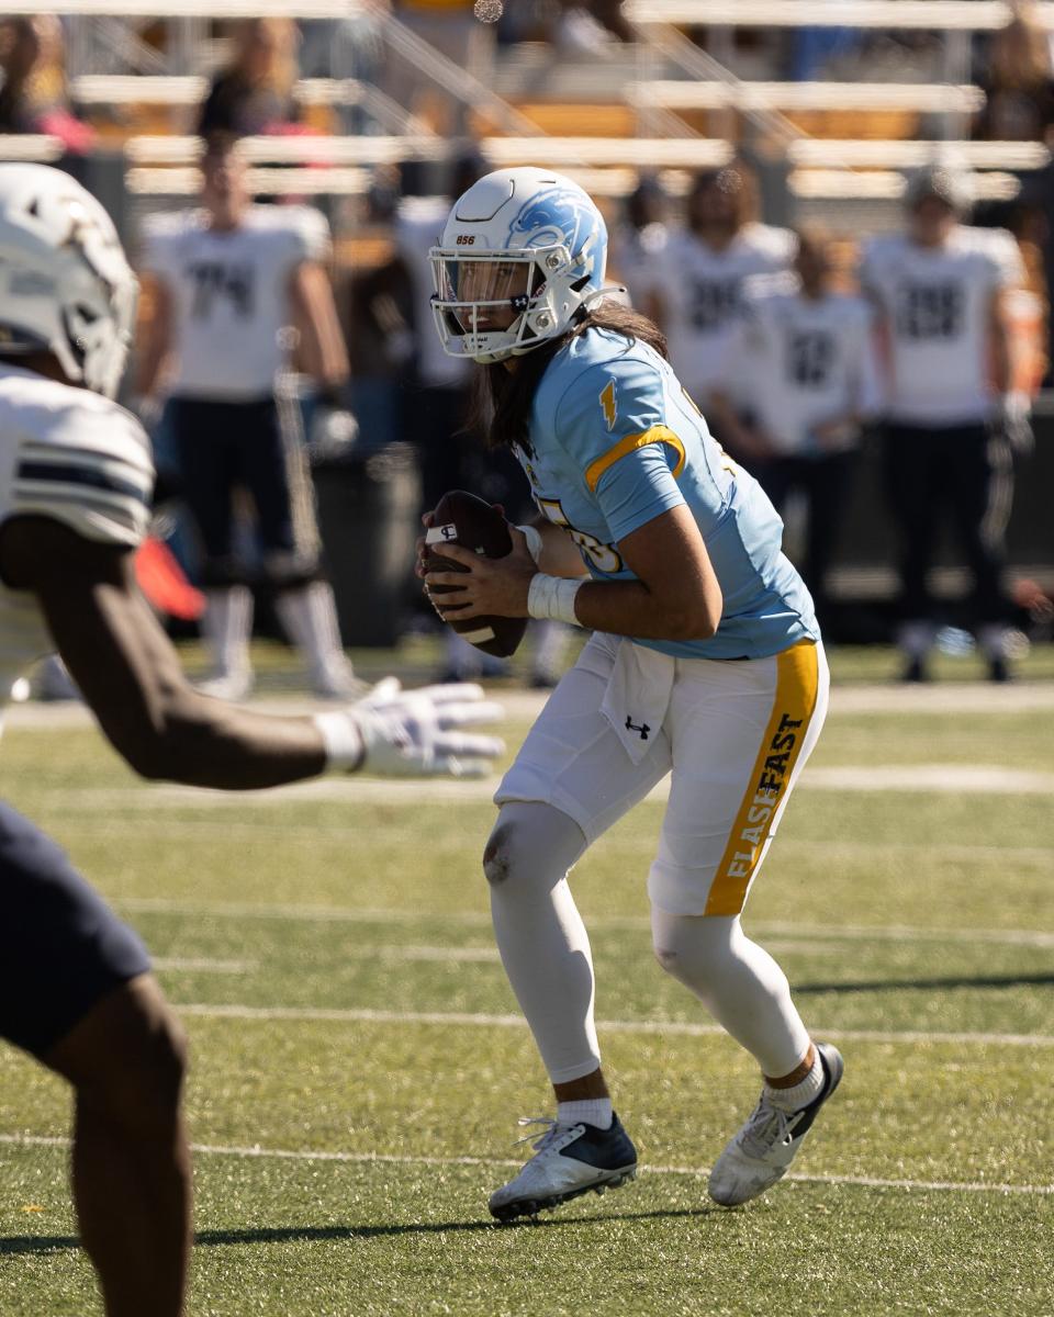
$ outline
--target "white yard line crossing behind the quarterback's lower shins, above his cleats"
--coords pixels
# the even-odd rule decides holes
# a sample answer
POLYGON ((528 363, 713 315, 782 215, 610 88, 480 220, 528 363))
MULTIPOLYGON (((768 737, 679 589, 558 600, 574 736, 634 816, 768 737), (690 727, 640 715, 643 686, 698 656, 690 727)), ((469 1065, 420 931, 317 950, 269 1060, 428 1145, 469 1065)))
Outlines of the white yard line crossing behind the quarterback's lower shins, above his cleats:
MULTIPOLYGON (((439 1010, 373 1010, 370 1008, 336 1006, 241 1006, 211 1002, 173 1002, 183 1015, 206 1019, 302 1019, 337 1025, 439 1025, 472 1029, 526 1029, 523 1015, 473 1014, 439 1010)), ((681 1038, 722 1035, 721 1025, 700 1025, 682 1019, 598 1019, 597 1029, 606 1034, 669 1034, 681 1038)), ((856 1043, 953 1043, 979 1047, 1054 1047, 1050 1034, 971 1034, 942 1030, 893 1029, 825 1029, 814 1034, 856 1043)))

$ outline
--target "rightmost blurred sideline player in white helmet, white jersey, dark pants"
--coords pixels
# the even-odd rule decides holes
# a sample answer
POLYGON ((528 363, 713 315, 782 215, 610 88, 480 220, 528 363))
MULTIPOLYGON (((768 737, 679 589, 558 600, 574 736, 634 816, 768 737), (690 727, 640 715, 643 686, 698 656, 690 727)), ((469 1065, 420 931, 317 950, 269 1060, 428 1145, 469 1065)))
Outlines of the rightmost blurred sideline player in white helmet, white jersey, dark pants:
POLYGON ((947 515, 974 577, 970 624, 993 681, 1005 681, 1007 605, 1000 590, 1013 493, 1012 446, 1029 443, 1028 395, 1013 391, 1007 292, 1025 271, 1004 229, 959 223, 966 179, 945 167, 908 184, 908 223, 867 244, 860 283, 887 349, 885 489, 902 541, 905 681, 925 681, 937 635, 926 574, 947 515))

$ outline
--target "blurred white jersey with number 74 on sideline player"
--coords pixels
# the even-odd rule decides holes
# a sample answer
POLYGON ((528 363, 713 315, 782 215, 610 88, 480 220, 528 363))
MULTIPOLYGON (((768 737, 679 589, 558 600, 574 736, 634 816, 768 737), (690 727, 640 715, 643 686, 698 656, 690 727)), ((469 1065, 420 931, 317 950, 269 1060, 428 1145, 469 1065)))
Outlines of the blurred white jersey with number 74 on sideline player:
POLYGON ((325 217, 307 205, 253 205, 237 229, 200 211, 152 216, 144 266, 173 298, 171 392, 246 402, 274 391, 289 357, 290 279, 329 254, 325 217))

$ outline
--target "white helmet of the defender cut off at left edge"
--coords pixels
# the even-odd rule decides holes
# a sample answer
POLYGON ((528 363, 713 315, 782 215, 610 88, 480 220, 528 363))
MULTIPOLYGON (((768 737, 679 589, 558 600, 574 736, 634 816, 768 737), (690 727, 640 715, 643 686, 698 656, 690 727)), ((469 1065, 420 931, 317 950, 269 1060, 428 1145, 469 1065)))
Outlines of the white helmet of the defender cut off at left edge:
POLYGON ((47 165, 0 165, 0 354, 51 352, 113 398, 138 283, 105 209, 47 165))

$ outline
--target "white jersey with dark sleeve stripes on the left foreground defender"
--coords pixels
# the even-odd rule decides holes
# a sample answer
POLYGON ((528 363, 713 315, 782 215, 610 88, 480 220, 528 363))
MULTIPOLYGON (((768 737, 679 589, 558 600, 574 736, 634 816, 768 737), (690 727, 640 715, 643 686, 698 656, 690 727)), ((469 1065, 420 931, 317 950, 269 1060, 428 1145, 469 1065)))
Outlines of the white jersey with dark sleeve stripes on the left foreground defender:
MULTIPOLYGON (((146 533, 154 466, 130 412, 100 394, 0 366, 0 525, 50 516, 86 540, 134 548, 146 533)), ((36 595, 0 579, 0 705, 54 649, 36 595)))

